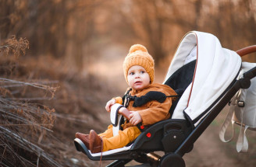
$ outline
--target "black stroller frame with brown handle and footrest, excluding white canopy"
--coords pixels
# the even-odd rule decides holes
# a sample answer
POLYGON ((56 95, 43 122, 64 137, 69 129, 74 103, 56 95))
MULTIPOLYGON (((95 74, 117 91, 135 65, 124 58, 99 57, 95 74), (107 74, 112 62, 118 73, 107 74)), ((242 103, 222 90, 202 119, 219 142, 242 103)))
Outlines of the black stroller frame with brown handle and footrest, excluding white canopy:
MULTIPOLYGON (((241 57, 254 52, 256 52, 256 45, 245 47, 244 49, 236 51, 236 53, 241 57)), ((189 65, 190 68, 193 68, 193 63, 194 62, 191 62, 187 65, 189 65)), ((183 155, 192 150, 194 142, 197 141, 197 138, 200 137, 200 135, 212 123, 215 117, 218 116, 218 114, 222 111, 226 104, 229 103, 230 99, 232 99, 236 92, 239 89, 248 89, 250 87, 251 78, 254 78, 255 76, 256 67, 245 72, 244 78, 240 78, 239 80, 235 79, 229 85, 226 91, 222 92, 222 96, 220 96, 215 103, 212 103, 212 105, 208 107, 208 109, 205 111, 208 112, 208 114, 201 120, 197 127, 194 127, 194 124, 190 123, 190 120, 188 119, 163 120, 142 132, 128 151, 121 151, 112 155, 103 155, 102 157, 92 156, 84 143, 78 138, 74 140, 76 150, 82 151, 85 155, 87 155, 88 158, 94 161, 116 160, 115 162, 109 164, 108 167, 124 166, 126 163, 132 160, 143 163, 144 165, 141 166, 185 167, 186 165, 182 158, 183 155), (151 134, 151 137, 148 137, 147 134, 151 134), (154 151, 164 151, 165 155, 161 157, 156 155, 154 151)), ((191 78, 188 78, 187 82, 190 82, 190 79, 191 78)), ((183 87, 186 86, 187 84, 183 85, 183 87)), ((173 87, 173 85, 171 87, 173 87)), ((174 110, 173 108, 175 108, 176 103, 172 104, 171 110, 174 110)))

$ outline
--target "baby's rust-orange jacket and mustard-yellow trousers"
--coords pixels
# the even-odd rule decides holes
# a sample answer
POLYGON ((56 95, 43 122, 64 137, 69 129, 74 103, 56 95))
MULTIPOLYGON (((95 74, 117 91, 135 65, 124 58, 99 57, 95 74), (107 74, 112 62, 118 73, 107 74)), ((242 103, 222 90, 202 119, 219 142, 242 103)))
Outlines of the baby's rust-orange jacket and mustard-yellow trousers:
MULTIPOLYGON (((127 89, 129 90, 129 89, 127 89)), ((144 96, 148 92, 163 92, 166 96, 176 96, 176 92, 171 89, 168 85, 162 84, 151 84, 146 89, 135 91, 131 90, 131 96, 144 96)), ((121 97, 116 97, 116 103, 123 103, 121 97)), ((133 106, 134 101, 130 101, 127 109, 130 111, 137 111, 140 113, 142 118, 142 125, 148 126, 155 124, 160 120, 167 120, 170 117, 169 109, 172 106, 172 98, 168 97, 163 103, 159 103, 156 100, 151 100, 148 103, 145 103, 143 106, 133 106)), ((131 141, 135 140, 140 135, 140 130, 137 126, 130 124, 129 122, 122 125, 123 130, 119 130, 119 134, 113 137, 112 124, 108 126, 108 130, 105 130, 104 133, 98 134, 102 137, 103 140, 103 151, 108 151, 116 148, 123 148, 126 144, 129 144, 131 141)))

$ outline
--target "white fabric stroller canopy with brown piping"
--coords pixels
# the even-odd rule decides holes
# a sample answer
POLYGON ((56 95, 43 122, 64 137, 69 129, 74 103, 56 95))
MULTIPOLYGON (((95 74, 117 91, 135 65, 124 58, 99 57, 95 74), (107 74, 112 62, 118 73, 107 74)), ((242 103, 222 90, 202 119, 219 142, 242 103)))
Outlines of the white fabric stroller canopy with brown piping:
POLYGON ((212 34, 192 31, 181 40, 165 82, 176 70, 194 59, 197 62, 193 82, 183 92, 172 118, 185 119, 186 114, 197 126, 207 115, 204 111, 222 96, 236 78, 241 58, 233 50, 222 48, 218 38, 212 34))

